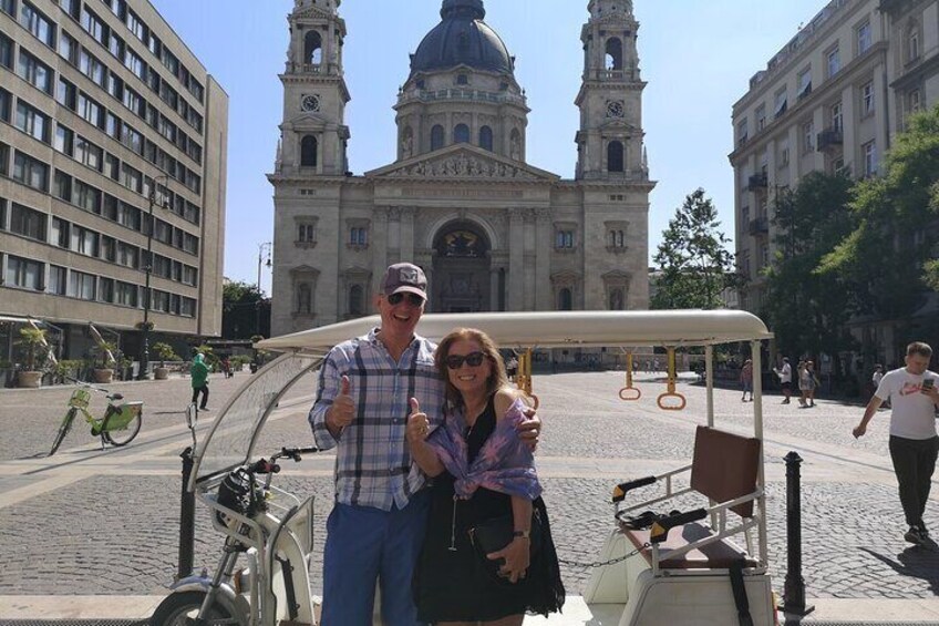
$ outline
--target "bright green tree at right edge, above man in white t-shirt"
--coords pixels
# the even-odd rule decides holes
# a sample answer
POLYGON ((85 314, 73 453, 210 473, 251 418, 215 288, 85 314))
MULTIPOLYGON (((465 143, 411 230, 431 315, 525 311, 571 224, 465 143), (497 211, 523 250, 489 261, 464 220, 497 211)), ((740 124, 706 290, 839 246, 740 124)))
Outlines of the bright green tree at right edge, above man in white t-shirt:
POLYGON ((911 317, 939 285, 939 105, 911 115, 886 155, 883 176, 855 187, 857 225, 821 263, 855 287, 857 312, 891 320, 898 343, 912 335, 911 317))

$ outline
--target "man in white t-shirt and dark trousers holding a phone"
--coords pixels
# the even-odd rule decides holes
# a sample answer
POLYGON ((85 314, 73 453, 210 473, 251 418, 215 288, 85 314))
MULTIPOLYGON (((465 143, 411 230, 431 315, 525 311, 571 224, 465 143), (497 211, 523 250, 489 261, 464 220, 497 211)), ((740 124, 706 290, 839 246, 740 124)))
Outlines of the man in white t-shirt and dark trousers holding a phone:
POLYGON ((928 343, 915 341, 907 346, 906 367, 884 374, 860 424, 854 429, 856 438, 864 435, 880 403, 890 400, 890 459, 909 525, 904 538, 915 544, 929 538, 922 514, 939 453, 935 409, 939 406, 939 374, 927 369, 931 357, 932 348, 928 343))

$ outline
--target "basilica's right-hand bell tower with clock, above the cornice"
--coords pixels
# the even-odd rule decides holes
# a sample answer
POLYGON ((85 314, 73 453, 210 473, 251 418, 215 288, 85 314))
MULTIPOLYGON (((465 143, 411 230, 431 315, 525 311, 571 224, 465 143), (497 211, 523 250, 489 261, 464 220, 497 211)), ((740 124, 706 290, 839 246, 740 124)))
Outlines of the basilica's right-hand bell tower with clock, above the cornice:
POLYGON ((590 0, 581 30, 584 78, 575 104, 577 179, 648 181, 642 90, 631 0, 590 0))

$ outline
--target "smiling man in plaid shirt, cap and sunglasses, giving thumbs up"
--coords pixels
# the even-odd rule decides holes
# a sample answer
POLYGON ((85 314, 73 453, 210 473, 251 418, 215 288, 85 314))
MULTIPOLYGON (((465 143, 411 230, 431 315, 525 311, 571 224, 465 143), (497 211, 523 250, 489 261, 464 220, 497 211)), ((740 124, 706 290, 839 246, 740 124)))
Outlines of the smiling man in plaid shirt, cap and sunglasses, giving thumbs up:
MULTIPOLYGON (((443 421, 444 402, 436 345, 414 335, 426 290, 420 267, 390 266, 376 298, 381 328, 334 347, 320 369, 310 424, 317 447, 337 449, 323 554, 326 626, 371 625, 376 579, 383 623, 417 624, 411 578, 430 501, 404 433, 411 398, 425 407, 432 429, 443 421)), ((522 429, 534 448, 540 422, 522 429)))

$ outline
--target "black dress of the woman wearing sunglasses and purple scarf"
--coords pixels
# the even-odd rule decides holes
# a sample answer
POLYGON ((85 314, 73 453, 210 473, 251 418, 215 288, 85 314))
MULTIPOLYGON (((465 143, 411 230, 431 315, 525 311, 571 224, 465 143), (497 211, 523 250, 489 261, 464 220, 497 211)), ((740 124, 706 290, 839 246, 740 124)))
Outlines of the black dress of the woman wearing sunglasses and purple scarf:
MULTIPOLYGON (((471 463, 495 427, 495 406, 489 399, 476 423, 467 429, 471 463)), ((559 610, 565 591, 541 499, 533 502, 541 515, 541 547, 529 564, 527 576, 507 584, 494 579, 479 563, 468 531, 483 520, 510 515, 510 496, 479 488, 470 500, 454 500, 453 480, 444 472, 430 488, 427 531, 413 581, 417 618, 430 623, 489 622, 508 615, 559 610)))

